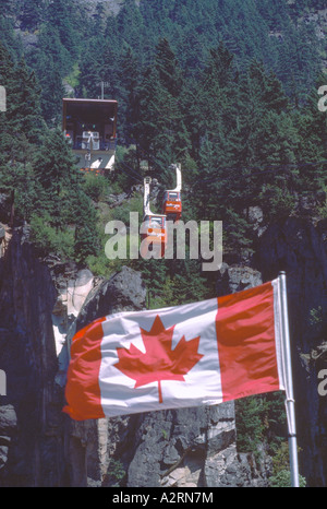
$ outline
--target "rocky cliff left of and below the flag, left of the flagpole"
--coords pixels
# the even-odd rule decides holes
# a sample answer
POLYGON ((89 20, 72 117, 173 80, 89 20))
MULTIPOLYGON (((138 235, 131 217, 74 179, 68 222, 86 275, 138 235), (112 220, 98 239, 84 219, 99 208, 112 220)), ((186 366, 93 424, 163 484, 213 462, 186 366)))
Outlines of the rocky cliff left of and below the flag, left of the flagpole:
POLYGON ((0 269, 0 486, 265 485, 265 469, 237 451, 233 403, 83 423, 61 412, 72 335, 97 317, 145 308, 138 273, 101 281, 40 261, 27 227, 13 232, 0 269))

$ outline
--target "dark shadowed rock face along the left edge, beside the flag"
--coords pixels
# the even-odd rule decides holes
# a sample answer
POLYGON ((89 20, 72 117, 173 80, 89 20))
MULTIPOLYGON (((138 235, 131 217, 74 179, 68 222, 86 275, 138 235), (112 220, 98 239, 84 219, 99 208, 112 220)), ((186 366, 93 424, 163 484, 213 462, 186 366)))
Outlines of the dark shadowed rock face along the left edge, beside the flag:
POLYGON ((16 422, 15 437, 8 446, 10 461, 0 470, 0 486, 63 482, 51 321, 56 291, 48 268, 37 260, 27 238, 28 228, 15 230, 0 263, 0 366, 7 374, 0 410, 9 406, 5 415, 16 422))

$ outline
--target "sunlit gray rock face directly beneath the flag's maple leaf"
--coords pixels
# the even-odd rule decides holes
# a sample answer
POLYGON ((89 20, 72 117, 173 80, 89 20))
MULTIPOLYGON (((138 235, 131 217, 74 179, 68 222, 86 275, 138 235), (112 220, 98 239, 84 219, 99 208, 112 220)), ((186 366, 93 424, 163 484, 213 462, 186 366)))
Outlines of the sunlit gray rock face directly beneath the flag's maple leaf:
POLYGON ((255 477, 265 484, 237 452, 233 402, 156 412, 138 419, 128 486, 253 486, 255 477))

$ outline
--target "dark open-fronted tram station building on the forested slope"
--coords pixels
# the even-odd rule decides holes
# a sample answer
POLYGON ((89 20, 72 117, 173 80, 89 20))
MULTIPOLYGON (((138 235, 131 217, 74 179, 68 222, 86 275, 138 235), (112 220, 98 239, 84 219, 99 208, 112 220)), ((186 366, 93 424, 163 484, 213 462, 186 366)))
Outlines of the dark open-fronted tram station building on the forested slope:
POLYGON ((80 169, 113 169, 117 142, 117 100, 62 99, 62 130, 80 169))

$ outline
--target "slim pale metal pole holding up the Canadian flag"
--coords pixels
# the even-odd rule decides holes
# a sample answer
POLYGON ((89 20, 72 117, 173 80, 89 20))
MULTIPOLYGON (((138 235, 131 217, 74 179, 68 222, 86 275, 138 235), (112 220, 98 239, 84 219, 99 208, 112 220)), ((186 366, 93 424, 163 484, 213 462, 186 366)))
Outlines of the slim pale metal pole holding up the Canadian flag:
POLYGON ((286 412, 288 419, 288 440, 290 453, 291 485, 299 487, 299 462, 298 462, 298 443, 295 427, 295 406, 293 395, 292 365, 291 365, 291 345, 288 313, 287 279, 286 272, 279 273, 280 304, 281 304, 281 327, 283 343, 283 365, 284 365, 284 386, 286 386, 286 412))

